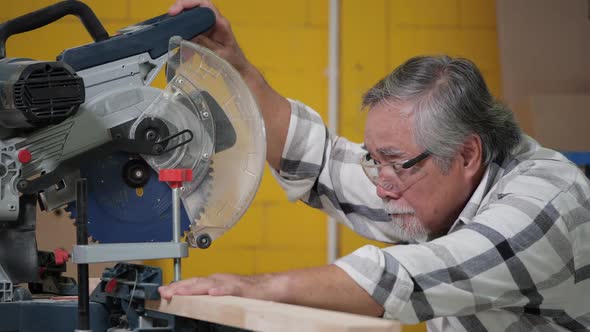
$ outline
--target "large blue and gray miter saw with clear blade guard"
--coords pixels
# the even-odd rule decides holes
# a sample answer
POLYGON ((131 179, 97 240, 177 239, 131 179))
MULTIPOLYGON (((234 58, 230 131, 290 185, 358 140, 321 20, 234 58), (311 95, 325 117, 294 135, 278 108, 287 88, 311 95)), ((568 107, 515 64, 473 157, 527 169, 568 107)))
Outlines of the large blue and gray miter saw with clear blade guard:
MULTIPOLYGON (((16 285, 39 281, 37 202, 46 211, 65 206, 77 219, 79 279, 87 279, 80 275, 86 264, 157 258, 173 258, 178 278, 187 246, 209 247, 243 215, 263 173, 264 124, 239 74, 187 41, 214 23, 211 10, 195 8, 109 37, 89 7, 68 0, 0 25, 0 305, 27 299, 16 285), (57 61, 6 57, 10 36, 69 14, 94 43, 64 50, 57 61), (163 90, 150 86, 160 72, 163 90), (86 229, 99 244, 87 244, 86 229)), ((145 271, 106 271, 93 299, 110 305, 99 305, 98 316, 128 304, 123 327, 147 326, 133 300, 157 298, 145 290, 161 283, 161 272, 145 271), (128 287, 109 293, 112 280, 128 287)), ((10 308, 21 316, 29 310, 10 308)))

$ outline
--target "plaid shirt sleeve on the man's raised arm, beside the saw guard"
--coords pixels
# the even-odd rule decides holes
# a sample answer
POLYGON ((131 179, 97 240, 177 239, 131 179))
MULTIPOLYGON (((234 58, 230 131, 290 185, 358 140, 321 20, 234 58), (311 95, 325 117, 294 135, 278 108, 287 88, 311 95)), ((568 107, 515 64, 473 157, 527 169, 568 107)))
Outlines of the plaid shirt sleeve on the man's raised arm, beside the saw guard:
POLYGON ((361 144, 332 135, 318 113, 289 102, 291 119, 280 170, 271 168, 289 200, 321 209, 364 237, 397 242, 388 233, 391 219, 360 166, 366 152, 361 144))

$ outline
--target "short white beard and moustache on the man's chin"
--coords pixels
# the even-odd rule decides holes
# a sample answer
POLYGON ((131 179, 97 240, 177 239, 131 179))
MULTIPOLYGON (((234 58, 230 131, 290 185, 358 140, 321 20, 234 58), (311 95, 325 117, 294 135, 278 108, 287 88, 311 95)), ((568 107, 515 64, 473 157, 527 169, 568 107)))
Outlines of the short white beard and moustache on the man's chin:
POLYGON ((430 232, 415 216, 414 209, 398 206, 392 200, 383 200, 384 209, 391 216, 391 234, 401 241, 426 241, 430 232), (403 217, 397 215, 403 214, 403 217))

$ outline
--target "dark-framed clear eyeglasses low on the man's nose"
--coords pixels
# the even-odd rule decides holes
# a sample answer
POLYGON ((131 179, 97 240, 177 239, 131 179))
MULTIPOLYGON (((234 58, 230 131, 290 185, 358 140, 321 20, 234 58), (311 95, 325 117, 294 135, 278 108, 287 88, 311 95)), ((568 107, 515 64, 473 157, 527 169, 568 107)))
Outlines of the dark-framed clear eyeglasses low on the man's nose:
POLYGON ((418 163, 429 156, 430 152, 426 150, 417 157, 402 162, 379 162, 367 152, 361 157, 361 167, 374 185, 401 193, 426 176, 426 171, 418 163))

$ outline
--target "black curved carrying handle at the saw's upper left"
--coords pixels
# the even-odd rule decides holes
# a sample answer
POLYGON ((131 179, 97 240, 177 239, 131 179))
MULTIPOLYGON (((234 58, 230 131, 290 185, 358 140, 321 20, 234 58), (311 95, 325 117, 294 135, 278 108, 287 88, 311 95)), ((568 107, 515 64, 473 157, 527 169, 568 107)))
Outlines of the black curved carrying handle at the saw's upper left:
POLYGON ((75 15, 94 41, 109 38, 109 34, 92 9, 79 1, 65 0, 0 24, 0 59, 6 57, 6 40, 19 33, 39 29, 66 15, 75 15))

